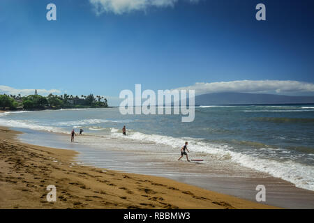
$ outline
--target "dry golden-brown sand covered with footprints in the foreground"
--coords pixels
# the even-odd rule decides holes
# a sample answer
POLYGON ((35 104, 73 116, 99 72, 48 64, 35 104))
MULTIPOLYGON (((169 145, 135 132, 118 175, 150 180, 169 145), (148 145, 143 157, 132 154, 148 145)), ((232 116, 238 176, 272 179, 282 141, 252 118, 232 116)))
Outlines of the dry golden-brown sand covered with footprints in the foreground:
POLYGON ((276 208, 158 176, 76 164, 78 153, 24 144, 0 127, 0 208, 276 208), (47 202, 47 185, 57 201, 47 202))

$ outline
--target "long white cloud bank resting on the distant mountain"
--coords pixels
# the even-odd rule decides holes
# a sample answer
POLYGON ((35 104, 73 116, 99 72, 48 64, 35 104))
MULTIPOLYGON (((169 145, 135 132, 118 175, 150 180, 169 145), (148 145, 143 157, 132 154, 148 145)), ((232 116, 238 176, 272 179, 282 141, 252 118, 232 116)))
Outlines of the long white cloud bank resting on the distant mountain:
POLYGON ((297 81, 278 80, 240 80, 233 82, 199 82, 192 86, 178 88, 178 90, 195 90, 195 94, 242 92, 242 93, 300 93, 314 92, 314 84, 297 81))

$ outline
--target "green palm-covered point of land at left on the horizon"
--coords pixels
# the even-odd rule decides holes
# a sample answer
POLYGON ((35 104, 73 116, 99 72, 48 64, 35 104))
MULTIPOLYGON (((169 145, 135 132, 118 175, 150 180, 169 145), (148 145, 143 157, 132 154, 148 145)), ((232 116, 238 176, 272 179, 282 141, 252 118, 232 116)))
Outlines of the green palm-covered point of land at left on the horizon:
POLYGON ((98 108, 108 107, 107 99, 91 93, 89 95, 0 95, 0 109, 2 110, 44 110, 44 109, 71 109, 71 108, 98 108))

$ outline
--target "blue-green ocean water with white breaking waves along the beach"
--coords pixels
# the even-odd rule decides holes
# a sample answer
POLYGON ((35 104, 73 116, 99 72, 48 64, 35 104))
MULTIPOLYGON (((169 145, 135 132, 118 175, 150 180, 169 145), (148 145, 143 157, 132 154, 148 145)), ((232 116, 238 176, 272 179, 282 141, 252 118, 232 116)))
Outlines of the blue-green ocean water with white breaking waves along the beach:
POLYGON ((73 128, 78 134, 82 128, 84 137, 75 137, 81 146, 101 151, 109 140, 125 141, 115 149, 141 151, 145 157, 162 153, 168 162, 177 162, 179 147, 188 141, 188 155, 211 164, 203 170, 219 162, 217 171, 244 176, 241 168, 234 172, 244 167, 314 191, 314 105, 197 106, 190 123, 179 115, 121 115, 117 107, 5 112, 0 125, 50 134, 70 134, 73 128))

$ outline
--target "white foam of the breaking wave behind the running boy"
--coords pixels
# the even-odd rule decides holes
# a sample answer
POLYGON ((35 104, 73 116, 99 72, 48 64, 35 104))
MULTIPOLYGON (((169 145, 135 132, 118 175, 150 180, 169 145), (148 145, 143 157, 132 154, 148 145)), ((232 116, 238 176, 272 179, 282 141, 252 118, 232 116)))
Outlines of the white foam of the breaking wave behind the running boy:
MULTIPOLYGON (((121 134, 114 133, 114 136, 121 137, 121 134)), ((184 141, 186 141, 184 138, 167 137, 159 134, 143 134, 141 132, 134 132, 127 137, 129 139, 154 142, 156 144, 166 144, 172 146, 174 149, 178 149, 178 147, 183 145, 184 141)), ((264 159, 258 157, 258 154, 244 154, 239 151, 234 151, 232 146, 225 144, 209 144, 199 139, 189 139, 188 143, 191 150, 193 149, 195 152, 214 154, 220 160, 225 160, 226 157, 230 157, 232 161, 244 167, 282 178, 306 190, 314 190, 314 167, 299 164, 291 160, 278 162, 276 160, 264 159)), ((272 152, 274 153, 274 151, 272 152)))

